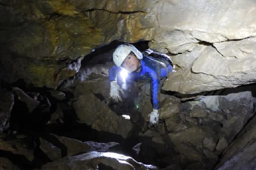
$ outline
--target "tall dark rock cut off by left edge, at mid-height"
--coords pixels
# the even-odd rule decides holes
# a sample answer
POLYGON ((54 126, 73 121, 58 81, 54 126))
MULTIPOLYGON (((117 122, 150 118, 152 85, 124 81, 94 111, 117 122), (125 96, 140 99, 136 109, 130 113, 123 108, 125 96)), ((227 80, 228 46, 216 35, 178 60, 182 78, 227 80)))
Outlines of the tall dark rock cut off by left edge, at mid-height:
POLYGON ((3 133, 9 127, 14 95, 2 89, 0 89, 0 94, 0 133, 3 133))

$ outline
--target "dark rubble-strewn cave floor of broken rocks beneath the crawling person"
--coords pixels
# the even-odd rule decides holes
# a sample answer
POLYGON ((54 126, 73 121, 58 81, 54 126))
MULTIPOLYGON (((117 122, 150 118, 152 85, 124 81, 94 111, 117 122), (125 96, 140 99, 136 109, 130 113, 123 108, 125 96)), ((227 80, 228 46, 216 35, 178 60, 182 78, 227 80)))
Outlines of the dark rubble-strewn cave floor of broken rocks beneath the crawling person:
POLYGON ((160 124, 148 128, 148 82, 130 84, 118 104, 102 74, 70 84, 1 83, 2 169, 211 170, 255 113, 253 85, 186 98, 163 91, 160 124))

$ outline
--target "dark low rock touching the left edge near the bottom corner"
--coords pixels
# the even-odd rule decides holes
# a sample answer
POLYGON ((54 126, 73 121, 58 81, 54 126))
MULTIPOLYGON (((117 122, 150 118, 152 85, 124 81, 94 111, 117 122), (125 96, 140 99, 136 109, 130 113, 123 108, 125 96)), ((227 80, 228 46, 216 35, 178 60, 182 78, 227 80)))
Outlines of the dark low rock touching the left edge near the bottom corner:
POLYGON ((0 150, 24 155, 29 161, 34 160, 35 143, 24 136, 18 139, 6 139, 6 134, 0 134, 0 150))

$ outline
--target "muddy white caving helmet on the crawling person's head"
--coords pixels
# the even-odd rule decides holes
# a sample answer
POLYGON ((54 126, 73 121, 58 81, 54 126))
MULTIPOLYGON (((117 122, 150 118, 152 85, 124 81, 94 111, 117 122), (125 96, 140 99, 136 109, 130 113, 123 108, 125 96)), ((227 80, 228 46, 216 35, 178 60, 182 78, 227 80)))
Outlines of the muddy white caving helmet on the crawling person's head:
POLYGON ((143 55, 142 53, 140 53, 140 51, 138 51, 138 49, 136 49, 136 47, 134 47, 131 44, 123 44, 123 45, 119 45, 116 50, 113 53, 113 61, 116 64, 116 66, 120 67, 124 61, 124 59, 126 59, 126 57, 133 52, 134 55, 141 60, 143 55))

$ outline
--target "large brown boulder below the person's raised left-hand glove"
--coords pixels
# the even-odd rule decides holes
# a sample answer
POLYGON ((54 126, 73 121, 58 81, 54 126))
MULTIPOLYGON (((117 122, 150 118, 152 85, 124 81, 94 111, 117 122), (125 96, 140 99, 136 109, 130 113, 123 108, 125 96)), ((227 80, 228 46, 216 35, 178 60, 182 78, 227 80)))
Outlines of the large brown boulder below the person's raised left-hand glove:
POLYGON ((132 123, 114 113, 106 103, 100 101, 94 94, 88 92, 79 96, 73 107, 80 122, 92 125, 93 129, 118 134, 124 138, 129 137, 132 123))

